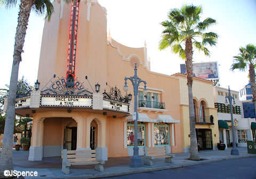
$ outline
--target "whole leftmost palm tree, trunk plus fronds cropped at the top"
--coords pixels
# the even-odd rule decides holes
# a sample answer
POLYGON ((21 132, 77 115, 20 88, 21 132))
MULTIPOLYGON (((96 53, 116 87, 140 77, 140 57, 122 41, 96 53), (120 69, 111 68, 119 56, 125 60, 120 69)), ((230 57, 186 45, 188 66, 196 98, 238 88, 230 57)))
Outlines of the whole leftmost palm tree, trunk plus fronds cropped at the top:
MULTIPOLYGON (((15 98, 17 92, 19 64, 21 62, 21 53, 26 36, 28 19, 30 11, 34 10, 37 14, 46 13, 50 20, 53 12, 52 0, 20 0, 20 11, 18 16, 18 25, 15 34, 13 64, 10 80, 10 91, 7 104, 7 112, 4 127, 4 138, 2 153, 0 158, 0 177, 4 177, 5 170, 13 170, 12 165, 12 144, 13 144, 13 126, 15 119, 15 98)), ((9 8, 17 4, 17 0, 0 0, 0 4, 9 8)))

